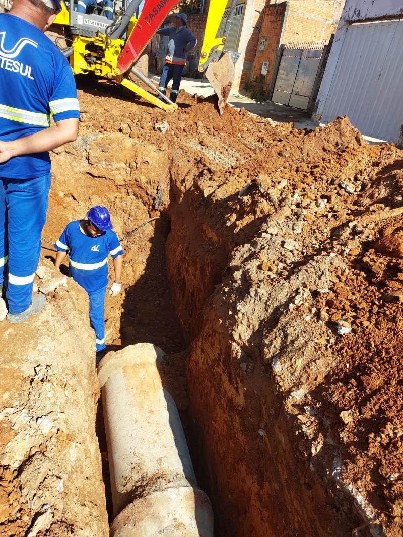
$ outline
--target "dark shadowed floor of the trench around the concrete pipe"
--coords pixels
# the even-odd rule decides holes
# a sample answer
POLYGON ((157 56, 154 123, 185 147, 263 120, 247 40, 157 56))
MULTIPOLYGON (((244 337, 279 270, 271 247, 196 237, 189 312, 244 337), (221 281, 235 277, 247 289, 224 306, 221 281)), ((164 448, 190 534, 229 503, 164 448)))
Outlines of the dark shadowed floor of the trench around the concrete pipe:
MULTIPOLYGON (((181 417, 182 426, 195 468, 197 480, 202 478, 200 461, 195 438, 192 436, 188 398, 186 394, 185 361, 189 355, 189 338, 174 308, 170 293, 167 260, 165 258, 165 241, 170 232, 169 217, 162 213, 154 224, 154 233, 150 238, 151 248, 146 259, 142 259, 144 269, 140 277, 126 291, 121 305, 121 330, 111 333, 110 340, 120 339, 121 344, 110 343, 107 351, 117 351, 127 345, 148 342, 161 347, 167 354, 165 364, 160 368, 163 386, 174 397, 181 417), (178 376, 180 375, 180 376, 178 376)), ((135 241, 136 237, 132 239, 135 241)), ((125 245, 125 249, 130 244, 125 245)), ((112 305, 112 308, 114 306, 112 305)), ((108 308, 105 310, 107 318, 108 308)), ((103 419, 102 397, 98 401, 96 433, 102 458, 102 474, 105 484, 106 509, 109 523, 113 521, 112 492, 109 462, 103 419)), ((214 509, 214 506, 213 506, 214 509)))

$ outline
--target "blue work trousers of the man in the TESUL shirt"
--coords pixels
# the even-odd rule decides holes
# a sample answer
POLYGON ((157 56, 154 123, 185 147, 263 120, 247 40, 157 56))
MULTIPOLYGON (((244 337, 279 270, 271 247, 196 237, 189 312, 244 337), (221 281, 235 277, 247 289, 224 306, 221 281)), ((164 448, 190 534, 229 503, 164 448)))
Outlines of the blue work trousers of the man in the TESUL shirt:
POLYGON ((34 179, 0 178, 0 284, 8 272, 6 299, 13 314, 31 304, 51 178, 50 173, 34 179))

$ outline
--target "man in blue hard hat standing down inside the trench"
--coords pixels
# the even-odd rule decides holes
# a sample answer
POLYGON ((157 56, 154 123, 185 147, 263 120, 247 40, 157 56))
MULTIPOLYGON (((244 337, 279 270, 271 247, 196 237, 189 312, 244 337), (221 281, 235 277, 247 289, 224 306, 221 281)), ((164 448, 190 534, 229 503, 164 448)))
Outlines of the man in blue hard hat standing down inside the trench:
POLYGON ((115 273, 109 294, 117 295, 121 291, 123 248, 112 231, 112 222, 106 207, 96 205, 87 213, 88 220, 75 220, 67 224, 55 249, 56 269, 69 252, 70 275, 84 287, 90 299, 90 321, 95 330, 97 357, 105 349, 104 304, 108 284, 107 257, 111 254, 115 273))

